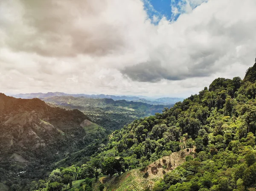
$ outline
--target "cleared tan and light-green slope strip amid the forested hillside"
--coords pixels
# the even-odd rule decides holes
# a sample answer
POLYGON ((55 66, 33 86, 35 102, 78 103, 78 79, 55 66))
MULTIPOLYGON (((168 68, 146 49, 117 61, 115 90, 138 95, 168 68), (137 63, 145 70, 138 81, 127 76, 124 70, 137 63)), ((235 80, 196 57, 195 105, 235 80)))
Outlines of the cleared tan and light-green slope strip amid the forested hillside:
POLYGON ((98 191, 100 183, 105 185, 104 191, 143 191, 145 188, 151 189, 155 182, 163 178, 164 174, 185 162, 186 156, 193 156, 194 151, 195 148, 193 148, 191 152, 190 149, 174 152, 169 156, 162 157, 152 162, 145 171, 133 169, 117 177, 101 177, 99 178, 99 182, 94 185, 93 190, 98 191), (147 178, 145 178, 146 172, 148 172, 147 178))

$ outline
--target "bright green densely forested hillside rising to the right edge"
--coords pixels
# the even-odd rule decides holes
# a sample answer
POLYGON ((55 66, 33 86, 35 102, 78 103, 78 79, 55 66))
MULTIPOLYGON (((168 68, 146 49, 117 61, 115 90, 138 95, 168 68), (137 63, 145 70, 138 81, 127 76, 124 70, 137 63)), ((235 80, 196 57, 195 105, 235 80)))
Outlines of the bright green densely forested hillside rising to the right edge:
MULTIPOLYGON (((128 191, 136 182, 137 175, 131 179, 129 171, 133 168, 140 169, 144 190, 255 190, 256 73, 248 72, 244 80, 218 78, 209 89, 205 87, 199 94, 166 108, 163 114, 135 120, 113 132, 109 143, 93 154, 90 161, 52 171, 44 183, 32 182, 31 190, 61 190, 63 185, 69 185, 70 191, 119 190, 108 187, 108 182, 114 174, 125 173, 115 184, 128 191), (148 168, 156 176, 158 165, 172 169, 172 163, 158 159, 184 148, 190 153, 186 162, 167 173, 161 172, 147 187, 148 168), (148 166, 151 162, 155 168, 148 166), (99 182, 100 174, 110 177, 99 182), (80 183, 73 186, 73 180, 80 183)), ((141 190, 143 185, 137 186, 135 190, 141 190)))

